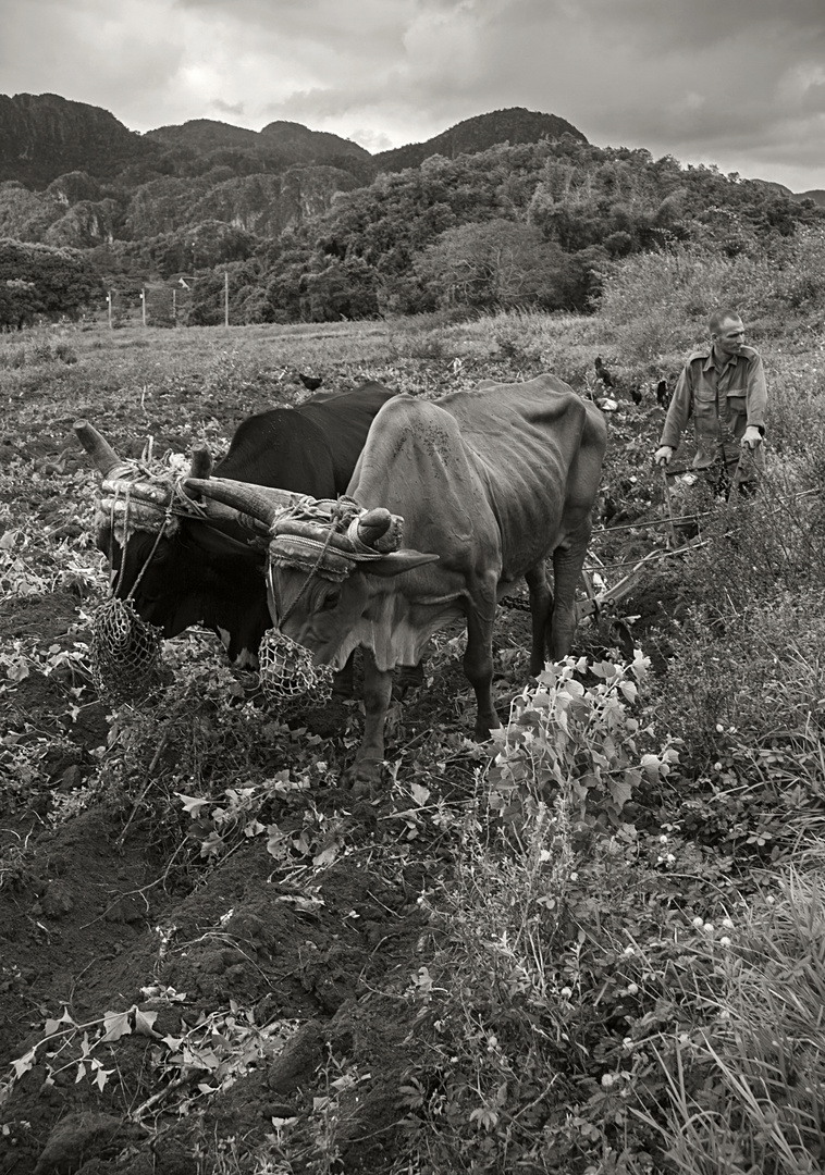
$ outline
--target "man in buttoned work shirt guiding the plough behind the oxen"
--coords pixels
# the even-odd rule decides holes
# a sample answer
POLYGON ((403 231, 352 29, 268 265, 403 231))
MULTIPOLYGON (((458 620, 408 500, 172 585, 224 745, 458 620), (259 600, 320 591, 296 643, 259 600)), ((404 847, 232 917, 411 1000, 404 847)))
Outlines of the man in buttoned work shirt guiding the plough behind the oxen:
POLYGON ((735 310, 715 311, 709 331, 710 343, 693 351, 676 384, 653 461, 669 464, 692 416, 693 469, 704 471, 713 495, 727 497, 732 486, 752 492, 765 465, 765 369, 735 310))

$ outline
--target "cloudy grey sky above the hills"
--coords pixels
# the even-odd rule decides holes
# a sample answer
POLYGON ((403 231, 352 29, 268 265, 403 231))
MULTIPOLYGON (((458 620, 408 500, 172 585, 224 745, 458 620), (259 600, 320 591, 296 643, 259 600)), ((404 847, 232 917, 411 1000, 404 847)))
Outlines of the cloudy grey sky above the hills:
POLYGON ((0 93, 132 130, 276 119, 368 150, 510 106, 825 188, 825 0, 2 0, 0 93))

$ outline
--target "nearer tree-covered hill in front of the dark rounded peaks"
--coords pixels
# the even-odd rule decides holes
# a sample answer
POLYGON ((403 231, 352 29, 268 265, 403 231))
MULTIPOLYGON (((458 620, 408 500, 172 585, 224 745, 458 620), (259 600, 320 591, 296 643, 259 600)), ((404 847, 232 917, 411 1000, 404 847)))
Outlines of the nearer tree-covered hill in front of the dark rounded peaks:
MULTIPOLYGON (((751 262, 749 268, 747 257, 771 242, 792 240, 798 224, 819 219, 816 209, 777 203, 759 184, 707 168, 685 172, 675 160, 653 162, 648 152, 601 149, 572 139, 497 146, 449 160, 432 156, 341 195, 293 237, 287 271, 287 258, 268 261, 261 280, 276 321, 331 318, 336 307, 343 307, 338 314, 363 313, 363 307, 347 308, 348 297, 357 301, 362 282, 347 268, 355 260, 371 274, 383 311, 524 303, 583 309, 611 264, 663 247, 677 249, 677 269, 680 258, 685 275, 679 274, 677 295, 665 274, 662 289, 655 286, 666 297, 639 341, 648 358, 672 344, 666 318, 675 304, 682 309, 685 302, 691 314, 706 316, 709 283, 712 289, 720 281, 719 274, 704 271, 706 257, 718 254, 726 273, 724 262, 743 256, 727 288, 736 302, 735 295, 758 278, 759 289, 742 303, 751 307, 767 290, 771 267, 751 262), (683 256, 678 248, 689 253, 683 256), (698 263, 691 260, 693 249, 698 263), (331 264, 331 283, 330 258, 340 263, 331 264), (324 280, 311 298, 314 275, 324 280)), ((645 301, 644 277, 638 281, 639 296, 631 296, 629 307, 619 287, 609 301, 623 307, 622 321, 633 307, 650 310, 651 302, 660 302, 658 296, 645 301)), ((804 296, 810 284, 797 282, 793 296, 804 296)), ((609 309, 606 316, 610 321, 609 309)))

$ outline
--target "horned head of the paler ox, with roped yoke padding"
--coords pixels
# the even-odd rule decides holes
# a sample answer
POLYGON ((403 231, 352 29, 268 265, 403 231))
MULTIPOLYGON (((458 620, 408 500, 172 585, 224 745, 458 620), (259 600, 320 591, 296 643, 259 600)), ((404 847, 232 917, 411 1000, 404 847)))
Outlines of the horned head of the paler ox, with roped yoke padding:
POLYGON ((267 525, 273 623, 317 664, 341 669, 355 645, 370 644, 367 634, 391 609, 387 580, 438 558, 402 548, 403 519, 383 508, 295 495, 284 503, 283 491, 220 477, 187 485, 267 525))

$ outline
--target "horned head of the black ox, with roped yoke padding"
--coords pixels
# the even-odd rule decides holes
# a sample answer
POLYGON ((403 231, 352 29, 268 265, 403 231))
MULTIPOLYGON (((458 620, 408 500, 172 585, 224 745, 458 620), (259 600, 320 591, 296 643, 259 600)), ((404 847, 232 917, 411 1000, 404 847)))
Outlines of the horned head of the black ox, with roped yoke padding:
MULTIPOLYGON (((114 595, 130 598, 141 619, 165 637, 204 624, 236 665, 255 665, 269 625, 264 558, 249 548, 250 532, 237 513, 216 502, 192 503, 187 513, 170 472, 150 477, 119 457, 87 421, 78 421, 75 432, 102 477, 95 543, 109 560, 114 595)), ((210 472, 209 450, 193 450, 190 476, 210 472)))

